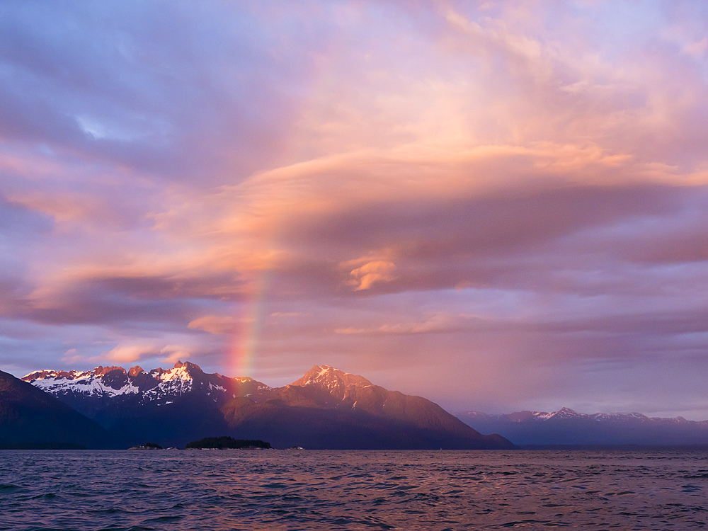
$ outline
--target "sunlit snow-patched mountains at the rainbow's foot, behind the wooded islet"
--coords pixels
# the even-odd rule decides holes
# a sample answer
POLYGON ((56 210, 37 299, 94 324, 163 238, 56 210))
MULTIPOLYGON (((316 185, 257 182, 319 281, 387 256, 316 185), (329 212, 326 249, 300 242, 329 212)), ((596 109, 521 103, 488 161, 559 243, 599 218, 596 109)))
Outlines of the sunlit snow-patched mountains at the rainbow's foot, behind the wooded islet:
POLYGON ((481 435, 420 396, 389 391, 326 365, 278 388, 207 374, 190 362, 149 372, 142 367, 42 370, 22 379, 96 421, 118 447, 146 441, 184 446, 220 435, 312 449, 513 447, 498 435, 481 435))

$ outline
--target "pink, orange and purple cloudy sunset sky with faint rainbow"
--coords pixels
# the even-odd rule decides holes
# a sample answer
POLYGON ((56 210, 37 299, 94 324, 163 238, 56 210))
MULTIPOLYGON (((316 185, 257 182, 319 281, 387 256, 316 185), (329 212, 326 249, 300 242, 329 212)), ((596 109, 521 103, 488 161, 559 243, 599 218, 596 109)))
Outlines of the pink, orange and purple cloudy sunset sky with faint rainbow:
POLYGON ((708 419, 708 3, 0 4, 0 370, 708 419))

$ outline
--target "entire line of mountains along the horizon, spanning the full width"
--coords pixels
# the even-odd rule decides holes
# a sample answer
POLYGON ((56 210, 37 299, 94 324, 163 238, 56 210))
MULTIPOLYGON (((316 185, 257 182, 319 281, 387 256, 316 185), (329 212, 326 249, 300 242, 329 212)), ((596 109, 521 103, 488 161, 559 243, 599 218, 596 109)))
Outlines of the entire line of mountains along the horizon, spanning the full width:
POLYGON ((708 421, 641 413, 519 411, 452 416, 420 396, 314 366, 285 387, 170 369, 0 371, 0 447, 183 447, 229 435, 274 447, 510 448, 546 445, 708 445, 708 421), (456 418, 457 417, 457 418, 456 418), (493 433, 498 435, 481 435, 493 433))

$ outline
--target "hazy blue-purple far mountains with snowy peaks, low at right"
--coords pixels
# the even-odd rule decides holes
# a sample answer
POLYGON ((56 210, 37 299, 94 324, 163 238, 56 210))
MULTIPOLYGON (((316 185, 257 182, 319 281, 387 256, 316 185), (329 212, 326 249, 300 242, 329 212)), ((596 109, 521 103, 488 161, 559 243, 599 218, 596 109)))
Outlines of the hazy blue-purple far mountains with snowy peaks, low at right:
POLYGON ((457 413, 481 433, 499 433, 516 445, 708 445, 708 421, 656 418, 641 413, 457 413))

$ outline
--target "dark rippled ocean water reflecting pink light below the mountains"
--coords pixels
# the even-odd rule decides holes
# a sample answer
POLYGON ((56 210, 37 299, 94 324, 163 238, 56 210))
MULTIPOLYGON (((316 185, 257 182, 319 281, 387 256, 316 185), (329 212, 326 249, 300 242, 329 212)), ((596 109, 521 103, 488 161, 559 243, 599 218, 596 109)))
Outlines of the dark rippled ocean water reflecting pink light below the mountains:
POLYGON ((0 530, 687 530, 707 452, 0 451, 0 530))

